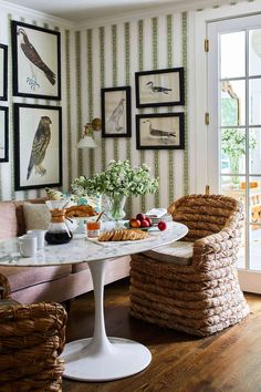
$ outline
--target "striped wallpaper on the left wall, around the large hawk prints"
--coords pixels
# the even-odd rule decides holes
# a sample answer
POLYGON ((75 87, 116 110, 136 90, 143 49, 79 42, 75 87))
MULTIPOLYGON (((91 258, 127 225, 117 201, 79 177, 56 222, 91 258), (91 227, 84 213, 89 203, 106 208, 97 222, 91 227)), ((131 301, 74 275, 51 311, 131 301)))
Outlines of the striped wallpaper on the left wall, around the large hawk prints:
MULTIPOLYGON (((4 10, 1 8, 0 13, 0 42, 8 45, 8 101, 1 101, 2 106, 9 107, 9 162, 0 164, 0 199, 27 199, 41 197, 45 195, 44 189, 30 189, 24 192, 14 192, 14 163, 15 163, 15 152, 13 149, 13 103, 28 103, 28 104, 43 104, 43 105, 58 105, 62 106, 62 132, 63 132, 63 184, 64 188, 67 189, 69 184, 71 184, 72 178, 75 176, 75 171, 73 169, 75 165, 76 148, 75 144, 77 141, 75 115, 72 114, 74 107, 72 102, 75 101, 72 93, 74 93, 75 80, 72 78, 72 69, 74 69, 75 54, 72 48, 74 47, 74 34, 71 27, 62 23, 55 23, 53 20, 49 20, 48 17, 35 17, 32 12, 30 14, 21 14, 15 10, 9 8, 4 10), (62 100, 61 101, 50 101, 40 99, 27 99, 12 96, 12 56, 11 56, 11 34, 10 24, 11 20, 17 20, 38 27, 56 30, 61 32, 61 64, 62 64, 62 100)), ((76 68, 75 68, 76 70, 76 68)), ((81 82, 80 82, 81 83, 81 82)), ((81 117, 81 113, 79 114, 81 117)), ((82 123, 79 130, 82 128, 82 123)), ((80 131, 81 132, 81 131, 80 131)))

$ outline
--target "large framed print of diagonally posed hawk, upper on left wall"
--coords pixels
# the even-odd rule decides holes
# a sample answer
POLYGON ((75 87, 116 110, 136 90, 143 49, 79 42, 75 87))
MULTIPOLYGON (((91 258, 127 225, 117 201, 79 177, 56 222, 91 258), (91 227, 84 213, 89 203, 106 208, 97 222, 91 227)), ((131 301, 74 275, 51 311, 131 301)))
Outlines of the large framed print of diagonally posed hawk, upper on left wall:
POLYGON ((12 21, 13 95, 61 100, 60 32, 12 21))

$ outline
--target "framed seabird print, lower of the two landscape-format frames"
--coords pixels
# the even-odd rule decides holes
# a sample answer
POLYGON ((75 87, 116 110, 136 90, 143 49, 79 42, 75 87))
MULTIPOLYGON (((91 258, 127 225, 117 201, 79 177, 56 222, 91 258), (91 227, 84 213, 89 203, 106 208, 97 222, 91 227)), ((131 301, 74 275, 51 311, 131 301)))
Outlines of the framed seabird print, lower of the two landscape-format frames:
POLYGON ((185 114, 153 113, 136 115, 137 149, 184 149, 185 114))

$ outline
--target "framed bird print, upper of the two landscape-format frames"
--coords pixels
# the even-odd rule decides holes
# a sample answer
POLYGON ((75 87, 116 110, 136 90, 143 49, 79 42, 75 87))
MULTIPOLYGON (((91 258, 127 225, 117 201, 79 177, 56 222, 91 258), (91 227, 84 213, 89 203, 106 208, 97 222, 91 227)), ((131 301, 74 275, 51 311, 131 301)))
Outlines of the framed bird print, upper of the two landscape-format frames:
POLYGON ((135 73, 136 106, 175 106, 185 104, 184 68, 135 73))

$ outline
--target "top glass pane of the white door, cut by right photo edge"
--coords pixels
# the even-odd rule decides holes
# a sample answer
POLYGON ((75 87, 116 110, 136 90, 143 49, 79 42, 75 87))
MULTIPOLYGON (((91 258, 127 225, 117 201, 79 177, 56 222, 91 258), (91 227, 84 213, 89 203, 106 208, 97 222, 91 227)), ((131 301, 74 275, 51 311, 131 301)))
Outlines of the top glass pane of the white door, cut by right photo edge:
POLYGON ((249 31, 249 74, 261 75, 261 29, 249 31))

